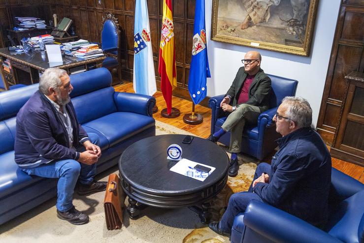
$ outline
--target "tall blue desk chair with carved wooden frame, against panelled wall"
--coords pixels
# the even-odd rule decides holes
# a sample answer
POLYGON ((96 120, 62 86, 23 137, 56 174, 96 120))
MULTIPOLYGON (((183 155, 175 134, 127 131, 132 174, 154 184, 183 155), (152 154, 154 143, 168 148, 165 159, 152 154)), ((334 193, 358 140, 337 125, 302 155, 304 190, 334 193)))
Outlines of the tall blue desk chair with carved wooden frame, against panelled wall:
POLYGON ((106 59, 102 62, 102 67, 109 69, 111 73, 117 72, 117 80, 114 80, 113 75, 113 85, 123 83, 121 81, 120 26, 118 19, 111 13, 106 13, 102 17, 101 25, 101 49, 107 55, 106 59))

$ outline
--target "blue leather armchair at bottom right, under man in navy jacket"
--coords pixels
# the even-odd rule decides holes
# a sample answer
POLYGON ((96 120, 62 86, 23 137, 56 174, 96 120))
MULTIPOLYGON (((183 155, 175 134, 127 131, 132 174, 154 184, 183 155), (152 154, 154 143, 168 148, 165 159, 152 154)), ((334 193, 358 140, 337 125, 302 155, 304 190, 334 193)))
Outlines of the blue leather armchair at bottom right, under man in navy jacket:
POLYGON ((270 205, 252 201, 232 226, 232 243, 363 243, 364 184, 332 168, 330 217, 324 230, 270 205))

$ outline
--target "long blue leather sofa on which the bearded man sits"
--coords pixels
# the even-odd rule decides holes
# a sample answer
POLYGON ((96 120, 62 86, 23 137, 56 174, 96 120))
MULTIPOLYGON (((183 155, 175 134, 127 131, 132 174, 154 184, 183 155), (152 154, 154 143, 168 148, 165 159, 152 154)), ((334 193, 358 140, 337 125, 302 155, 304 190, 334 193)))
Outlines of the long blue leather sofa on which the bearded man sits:
MULTIPOLYGON (((105 68, 70 76, 72 103, 86 132, 100 137, 100 173, 133 142, 155 136, 154 97, 115 92, 105 68)), ((56 196, 57 180, 30 176, 14 162, 16 114, 38 84, 0 93, 0 224, 56 196)))

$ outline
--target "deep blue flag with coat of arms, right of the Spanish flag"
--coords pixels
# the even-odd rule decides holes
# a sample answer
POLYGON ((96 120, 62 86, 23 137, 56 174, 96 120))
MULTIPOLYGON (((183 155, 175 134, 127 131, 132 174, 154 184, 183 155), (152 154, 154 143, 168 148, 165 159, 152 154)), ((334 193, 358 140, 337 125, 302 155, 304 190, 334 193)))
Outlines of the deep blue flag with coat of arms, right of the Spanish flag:
POLYGON ((206 97, 206 78, 211 77, 205 30, 205 0, 196 0, 191 68, 188 77, 188 90, 195 104, 199 104, 206 97))

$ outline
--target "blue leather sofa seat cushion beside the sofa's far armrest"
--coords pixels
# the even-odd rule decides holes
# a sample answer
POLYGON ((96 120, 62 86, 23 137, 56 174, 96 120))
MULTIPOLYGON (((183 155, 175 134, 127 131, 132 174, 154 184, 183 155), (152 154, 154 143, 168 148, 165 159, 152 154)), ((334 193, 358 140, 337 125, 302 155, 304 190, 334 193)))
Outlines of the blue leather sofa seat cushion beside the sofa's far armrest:
POLYGON ((82 124, 103 134, 110 147, 154 125, 153 117, 132 112, 115 112, 82 124))

